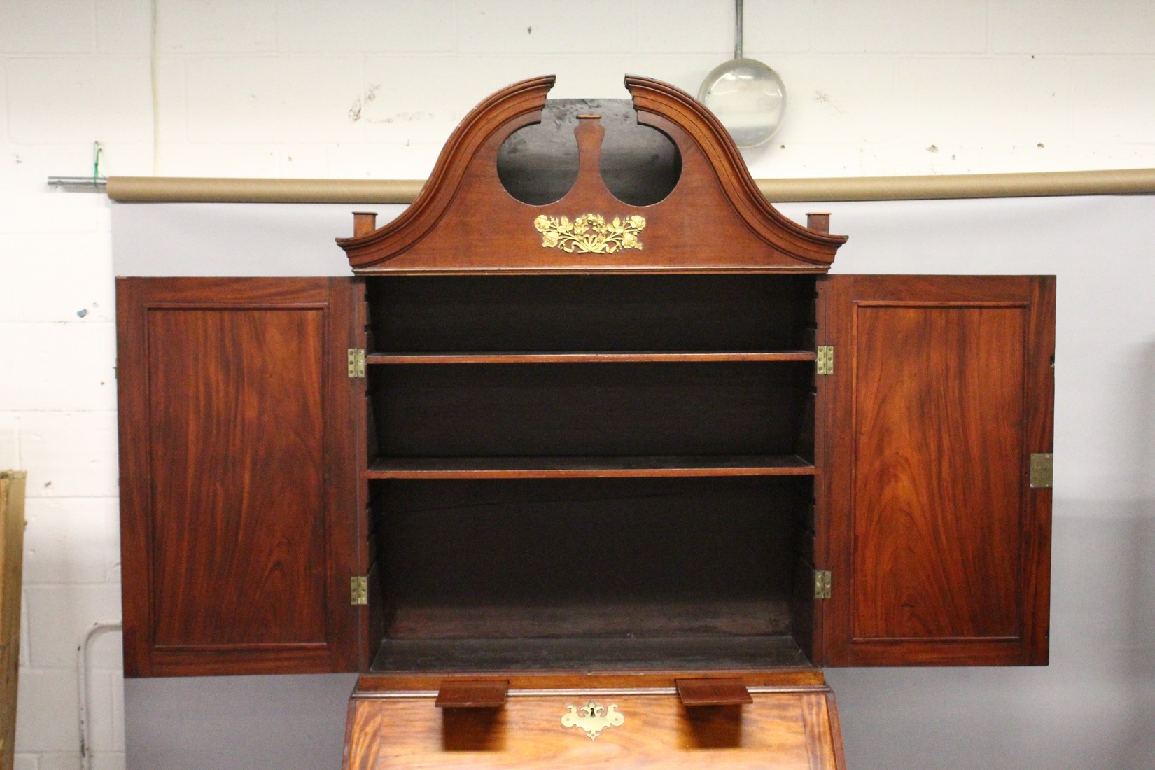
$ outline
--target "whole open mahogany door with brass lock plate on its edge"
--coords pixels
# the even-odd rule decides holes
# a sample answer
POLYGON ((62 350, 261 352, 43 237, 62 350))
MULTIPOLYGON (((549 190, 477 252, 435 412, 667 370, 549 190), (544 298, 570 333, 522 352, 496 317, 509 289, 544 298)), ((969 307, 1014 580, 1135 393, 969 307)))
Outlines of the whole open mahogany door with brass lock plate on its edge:
POLYGON ((1045 664, 1053 277, 819 284, 825 663, 1045 664))

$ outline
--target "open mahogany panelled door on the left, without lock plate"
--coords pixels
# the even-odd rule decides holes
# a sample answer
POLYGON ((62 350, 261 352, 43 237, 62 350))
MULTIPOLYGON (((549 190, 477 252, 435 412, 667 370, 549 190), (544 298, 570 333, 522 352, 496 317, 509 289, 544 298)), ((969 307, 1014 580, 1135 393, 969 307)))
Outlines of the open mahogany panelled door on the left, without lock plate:
POLYGON ((359 667, 348 278, 117 282, 125 673, 359 667))

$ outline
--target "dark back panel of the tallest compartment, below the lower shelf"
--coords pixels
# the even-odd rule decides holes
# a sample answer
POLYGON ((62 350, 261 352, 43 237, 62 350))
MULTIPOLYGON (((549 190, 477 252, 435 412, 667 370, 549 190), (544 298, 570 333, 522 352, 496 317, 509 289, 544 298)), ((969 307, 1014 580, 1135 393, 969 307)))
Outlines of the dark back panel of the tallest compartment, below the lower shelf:
POLYGON ((808 479, 379 483, 389 636, 789 634, 808 479))

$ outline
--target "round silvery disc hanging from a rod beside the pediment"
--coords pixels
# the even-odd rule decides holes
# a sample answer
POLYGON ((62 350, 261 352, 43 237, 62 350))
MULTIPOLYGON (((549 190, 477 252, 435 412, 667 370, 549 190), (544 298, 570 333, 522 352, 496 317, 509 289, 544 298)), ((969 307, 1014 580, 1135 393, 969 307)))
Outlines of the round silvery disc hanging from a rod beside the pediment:
POLYGON ((768 141, 782 125, 787 87, 778 74, 755 59, 731 59, 715 67, 698 91, 740 148, 768 141))

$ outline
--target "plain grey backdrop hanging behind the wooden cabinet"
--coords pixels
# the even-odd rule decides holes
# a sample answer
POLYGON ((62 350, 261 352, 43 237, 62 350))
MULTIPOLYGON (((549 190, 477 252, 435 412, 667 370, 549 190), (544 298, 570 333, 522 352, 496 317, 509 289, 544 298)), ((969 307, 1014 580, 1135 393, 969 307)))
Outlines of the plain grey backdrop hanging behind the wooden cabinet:
MULTIPOLYGON (((116 204, 118 275, 349 275, 353 210, 116 204)), ((851 770, 1155 767, 1155 197, 787 204, 835 272, 1055 274, 1051 665, 828 670, 851 770)), ((352 675, 125 682, 131 770, 340 765, 352 675)))

